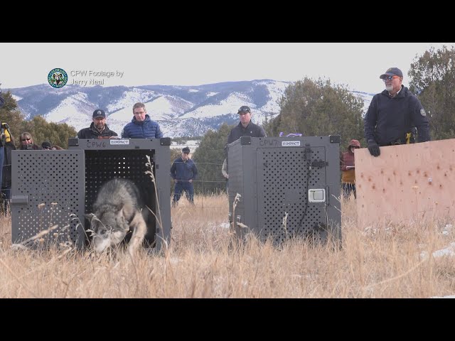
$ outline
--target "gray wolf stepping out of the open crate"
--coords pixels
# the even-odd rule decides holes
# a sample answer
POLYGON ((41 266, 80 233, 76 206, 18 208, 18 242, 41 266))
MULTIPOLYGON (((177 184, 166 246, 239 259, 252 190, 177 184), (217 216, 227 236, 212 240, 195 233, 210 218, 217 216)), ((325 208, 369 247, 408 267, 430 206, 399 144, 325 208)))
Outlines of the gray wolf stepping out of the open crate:
POLYGON ((127 247, 130 254, 142 244, 149 209, 142 202, 139 189, 132 180, 114 178, 104 183, 92 212, 86 217, 90 220, 95 252, 119 247, 129 232, 132 232, 127 247))

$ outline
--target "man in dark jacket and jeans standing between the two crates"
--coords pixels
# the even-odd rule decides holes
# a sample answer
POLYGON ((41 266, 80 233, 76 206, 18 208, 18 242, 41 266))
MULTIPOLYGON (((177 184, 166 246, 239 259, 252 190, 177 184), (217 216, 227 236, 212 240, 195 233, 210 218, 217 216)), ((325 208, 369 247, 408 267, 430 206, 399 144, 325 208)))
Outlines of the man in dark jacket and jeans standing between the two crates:
POLYGON ((190 158, 190 148, 185 147, 182 149, 182 156, 176 158, 171 166, 171 178, 176 180, 173 190, 173 206, 180 200, 182 192, 186 192, 188 201, 194 204, 193 180, 196 180, 197 176, 198 168, 196 168, 196 163, 190 158))

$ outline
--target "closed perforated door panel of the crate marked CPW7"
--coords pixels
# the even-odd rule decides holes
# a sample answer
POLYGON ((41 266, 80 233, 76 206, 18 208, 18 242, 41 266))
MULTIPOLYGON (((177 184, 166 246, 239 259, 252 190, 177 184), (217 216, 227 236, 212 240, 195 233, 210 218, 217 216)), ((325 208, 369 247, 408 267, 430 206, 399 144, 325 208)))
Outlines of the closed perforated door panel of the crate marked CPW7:
POLYGON ((310 167, 325 161, 325 148, 258 149, 259 233, 282 242, 309 236, 326 221, 323 205, 308 203, 308 189, 325 188, 326 168, 310 167))

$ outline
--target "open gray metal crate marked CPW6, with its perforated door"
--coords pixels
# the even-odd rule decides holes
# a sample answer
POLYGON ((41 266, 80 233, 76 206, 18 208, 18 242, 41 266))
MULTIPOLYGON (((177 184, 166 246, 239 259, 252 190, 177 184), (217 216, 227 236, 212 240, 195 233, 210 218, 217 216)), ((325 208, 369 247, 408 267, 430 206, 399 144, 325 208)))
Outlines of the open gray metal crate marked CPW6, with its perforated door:
POLYGON ((149 215, 144 244, 161 249, 164 241, 170 242, 171 139, 69 139, 68 144, 63 151, 12 151, 13 243, 58 225, 40 238, 41 244, 72 242, 84 247, 90 241, 85 213, 92 212, 97 190, 112 178, 133 180, 156 215, 149 215), (151 171, 147 156, 154 182, 145 173, 151 171))

